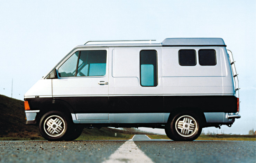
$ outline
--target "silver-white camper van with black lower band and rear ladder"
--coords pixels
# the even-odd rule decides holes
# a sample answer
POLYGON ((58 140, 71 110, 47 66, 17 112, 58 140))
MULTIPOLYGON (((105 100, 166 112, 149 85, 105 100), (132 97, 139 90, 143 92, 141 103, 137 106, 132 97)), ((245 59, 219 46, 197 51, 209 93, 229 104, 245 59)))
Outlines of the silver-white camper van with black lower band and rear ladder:
POLYGON ((221 38, 152 41, 76 46, 25 94, 26 124, 50 141, 74 140, 85 127, 161 128, 193 141, 202 128, 241 117, 234 60, 221 38))

